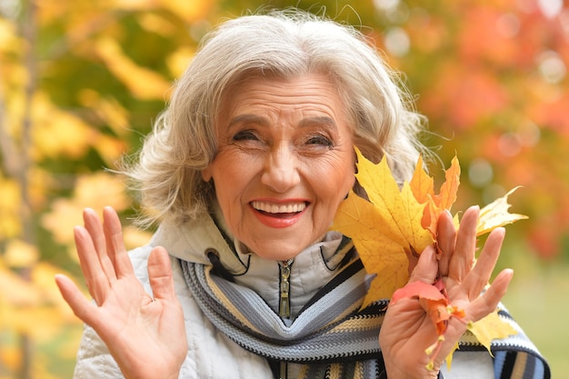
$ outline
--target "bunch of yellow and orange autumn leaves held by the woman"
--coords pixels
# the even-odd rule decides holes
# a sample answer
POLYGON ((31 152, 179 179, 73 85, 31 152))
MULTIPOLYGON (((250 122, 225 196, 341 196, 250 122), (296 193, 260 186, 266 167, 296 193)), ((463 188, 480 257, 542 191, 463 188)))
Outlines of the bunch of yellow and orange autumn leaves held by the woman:
MULTIPOLYGON (((369 200, 353 191, 340 205, 331 229, 352 238, 368 274, 376 274, 364 299, 364 306, 375 300, 416 296, 425 308, 439 334, 439 343, 444 339, 446 322, 450 317, 464 317, 462 310, 451 306, 444 291, 433 291, 434 286, 420 283, 412 289, 402 290, 409 279, 410 260, 415 260, 436 238, 436 223, 439 214, 450 211, 456 201, 460 184, 460 165, 454 157, 445 171, 445 182, 439 194, 434 194, 434 179, 427 175, 420 157, 410 182, 399 187, 383 159, 378 165, 368 161, 358 149, 357 174, 369 200), (421 287, 423 285, 423 287, 421 287), (399 291, 398 291, 399 290, 399 291), (395 294, 396 293, 396 294, 395 294)), ((522 214, 510 214, 507 196, 516 188, 486 205, 480 211, 477 235, 491 232, 494 228, 527 218, 522 214)), ((454 224, 459 227, 458 214, 454 224)), ((468 324, 467 333, 490 352, 493 339, 504 338, 516 331, 506 324, 497 313, 488 314, 476 323, 468 324)), ((439 344, 437 343, 437 344, 439 344)), ((436 354, 436 345, 425 352, 436 354)), ((455 346, 455 349, 458 346, 455 346)), ((453 353, 446 358, 450 365, 453 353)))

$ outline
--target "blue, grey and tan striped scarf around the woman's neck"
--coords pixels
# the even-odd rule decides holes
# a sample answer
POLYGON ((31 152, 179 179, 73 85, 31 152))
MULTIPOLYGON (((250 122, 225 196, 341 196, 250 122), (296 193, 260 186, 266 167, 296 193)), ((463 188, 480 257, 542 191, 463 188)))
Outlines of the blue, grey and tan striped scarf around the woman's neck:
MULTIPOLYGON (((269 363, 302 364, 300 378, 372 379, 384 374, 377 336, 388 302, 360 309, 367 290, 361 260, 346 264, 294 320, 282 319, 250 288, 212 273, 212 266, 180 261, 185 281, 217 329, 269 363)), ((550 378, 549 368, 519 326, 494 342, 496 379, 550 378)), ((495 340, 494 340, 495 341, 495 340)), ((460 350, 483 350, 465 334, 460 350)))

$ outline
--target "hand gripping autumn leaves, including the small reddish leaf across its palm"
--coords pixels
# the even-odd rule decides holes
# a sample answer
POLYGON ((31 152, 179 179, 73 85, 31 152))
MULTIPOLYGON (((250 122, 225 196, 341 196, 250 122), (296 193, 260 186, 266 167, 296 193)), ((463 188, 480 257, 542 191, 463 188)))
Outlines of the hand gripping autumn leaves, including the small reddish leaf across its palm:
POLYGON ((461 335, 472 323, 492 314, 505 294, 511 270, 498 274, 481 294, 500 254, 504 229, 489 235, 474 264, 478 213, 478 207, 469 208, 458 232, 450 214, 441 214, 441 259, 448 260, 449 270, 441 275, 436 251, 430 245, 421 254, 409 284, 394 293, 379 336, 389 377, 436 377, 461 335))

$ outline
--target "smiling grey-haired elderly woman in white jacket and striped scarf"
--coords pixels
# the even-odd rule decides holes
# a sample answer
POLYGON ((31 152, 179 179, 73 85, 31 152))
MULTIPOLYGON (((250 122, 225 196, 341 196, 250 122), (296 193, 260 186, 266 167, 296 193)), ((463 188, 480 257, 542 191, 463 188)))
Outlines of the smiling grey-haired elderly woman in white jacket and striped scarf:
MULTIPOLYGON (((412 173, 422 117, 394 78, 363 35, 314 15, 247 15, 208 35, 127 170, 145 222, 160 223, 152 242, 127 254, 110 208, 103 224, 85 210, 75 228, 95 300, 56 278, 87 324, 75 377, 442 376, 465 325, 450 321, 427 370, 437 335, 421 305, 360 309, 363 265, 349 239, 329 231, 349 190, 361 192, 354 146, 385 157, 401 182, 412 173)), ((477 216, 467 210, 458 232, 441 216, 441 259, 427 248, 410 278, 432 284, 442 274, 469 321, 494 311, 512 277, 504 270, 481 295, 504 230, 472 268, 477 216)), ((516 364, 524 372, 524 355, 530 377, 547 376, 532 349, 524 342, 495 360, 461 351, 444 375, 488 378, 495 365, 510 377, 516 364)))

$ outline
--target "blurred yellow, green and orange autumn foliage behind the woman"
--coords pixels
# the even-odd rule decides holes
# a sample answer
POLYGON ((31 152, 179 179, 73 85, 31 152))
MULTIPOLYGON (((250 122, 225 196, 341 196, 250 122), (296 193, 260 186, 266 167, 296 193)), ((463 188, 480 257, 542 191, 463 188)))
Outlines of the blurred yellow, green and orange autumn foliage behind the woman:
MULTIPOLYGON (((82 326, 53 276, 82 283, 74 225, 107 204, 128 224, 136 201, 105 168, 140 147, 205 32, 263 5, 324 13, 384 51, 430 120, 432 174, 461 162, 454 211, 524 186, 505 304, 569 377, 563 0, 0 0, 0 378, 71 377, 82 326)), ((149 236, 125 227, 130 247, 149 236)))

